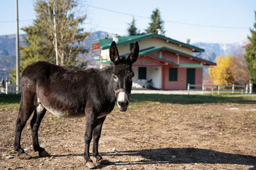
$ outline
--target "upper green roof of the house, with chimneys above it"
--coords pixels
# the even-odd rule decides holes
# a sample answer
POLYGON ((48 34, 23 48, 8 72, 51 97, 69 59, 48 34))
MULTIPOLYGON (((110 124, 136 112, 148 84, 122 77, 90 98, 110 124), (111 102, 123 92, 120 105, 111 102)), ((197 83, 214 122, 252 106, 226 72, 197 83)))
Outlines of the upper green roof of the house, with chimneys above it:
MULTIPOLYGON (((159 35, 157 33, 149 33, 149 34, 142 34, 142 35, 136 35, 136 36, 124 36, 124 37, 118 37, 118 42, 116 43, 117 46, 120 46, 120 45, 125 45, 127 43, 132 43, 134 41, 139 41, 141 39, 147 39, 147 38, 151 38, 151 37, 158 37, 158 38, 162 38, 162 39, 166 39, 172 43, 177 43, 179 45, 182 45, 182 46, 186 46, 188 48, 192 48, 192 49, 195 49, 196 51, 198 52, 204 52, 204 49, 203 48, 199 48, 197 46, 193 46, 193 45, 189 45, 187 43, 182 43, 180 41, 177 41, 175 39, 172 39, 172 38, 168 38, 166 36, 162 36, 162 35, 159 35)), ((110 45, 113 41, 113 38, 108 38, 108 39, 99 39, 99 46, 100 46, 100 49, 102 50, 105 50, 105 49, 108 49, 110 48, 110 45)))

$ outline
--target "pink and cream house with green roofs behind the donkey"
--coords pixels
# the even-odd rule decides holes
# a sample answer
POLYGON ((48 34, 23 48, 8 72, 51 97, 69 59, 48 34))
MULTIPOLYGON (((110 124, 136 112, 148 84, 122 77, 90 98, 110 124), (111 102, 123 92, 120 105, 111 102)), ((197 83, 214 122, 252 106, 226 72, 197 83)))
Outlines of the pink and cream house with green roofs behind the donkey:
POLYGON ((151 80, 153 87, 163 90, 186 89, 188 83, 202 84, 203 68, 216 66, 216 63, 198 57, 204 49, 182 43, 162 34, 150 33, 136 36, 124 36, 99 39, 93 42, 93 50, 100 50, 97 58, 102 64, 111 64, 109 48, 112 41, 116 41, 120 57, 126 57, 135 41, 140 45, 138 59, 132 65, 134 78, 151 80), (193 55, 196 53, 196 55, 193 55))

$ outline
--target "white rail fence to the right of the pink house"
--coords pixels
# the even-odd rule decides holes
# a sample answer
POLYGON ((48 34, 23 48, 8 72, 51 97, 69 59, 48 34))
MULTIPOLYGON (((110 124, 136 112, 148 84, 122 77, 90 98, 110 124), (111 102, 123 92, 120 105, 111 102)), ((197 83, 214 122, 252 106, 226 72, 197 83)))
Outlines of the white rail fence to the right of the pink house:
POLYGON ((234 94, 235 91, 239 91, 242 94, 252 94, 252 83, 249 85, 190 85, 188 83, 188 94, 190 90, 200 90, 200 89, 191 89, 191 87, 201 87, 202 93, 204 94, 205 91, 211 91, 213 94, 213 91, 218 91, 218 95, 220 94, 220 91, 231 91, 232 94, 234 94), (207 89, 207 87, 211 87, 210 89, 207 89), (224 88, 230 88, 230 89, 221 89, 221 87, 224 88))

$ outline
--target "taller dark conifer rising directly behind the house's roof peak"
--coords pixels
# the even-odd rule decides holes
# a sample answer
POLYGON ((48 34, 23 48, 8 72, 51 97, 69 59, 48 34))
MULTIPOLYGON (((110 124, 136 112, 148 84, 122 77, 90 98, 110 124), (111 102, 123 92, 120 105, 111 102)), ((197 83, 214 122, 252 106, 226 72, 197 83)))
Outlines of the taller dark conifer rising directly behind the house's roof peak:
POLYGON ((147 33, 152 33, 152 32, 157 32, 157 29, 161 29, 163 31, 164 21, 160 16, 160 11, 156 8, 156 10, 152 11, 151 22, 149 23, 149 26, 145 31, 147 33))

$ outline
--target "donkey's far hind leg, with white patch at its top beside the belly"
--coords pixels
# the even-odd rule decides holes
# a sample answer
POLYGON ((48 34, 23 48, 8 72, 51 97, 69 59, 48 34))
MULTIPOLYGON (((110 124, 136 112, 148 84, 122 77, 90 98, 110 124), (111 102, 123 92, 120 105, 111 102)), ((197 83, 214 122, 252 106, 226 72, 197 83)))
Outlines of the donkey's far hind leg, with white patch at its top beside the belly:
POLYGON ((32 134, 32 141, 33 141, 33 148, 35 152, 38 152, 39 157, 49 157, 50 154, 47 153, 44 148, 41 148, 38 142, 38 129, 40 127, 40 123, 45 115, 45 108, 42 104, 39 104, 34 112, 33 118, 31 119, 30 126, 31 126, 31 134, 32 134))

